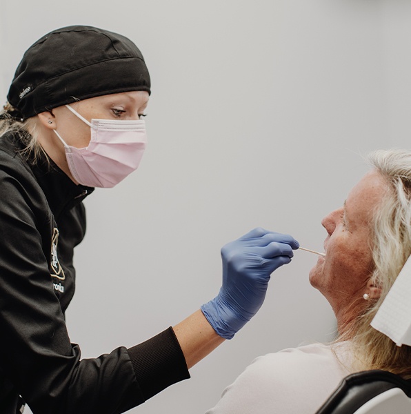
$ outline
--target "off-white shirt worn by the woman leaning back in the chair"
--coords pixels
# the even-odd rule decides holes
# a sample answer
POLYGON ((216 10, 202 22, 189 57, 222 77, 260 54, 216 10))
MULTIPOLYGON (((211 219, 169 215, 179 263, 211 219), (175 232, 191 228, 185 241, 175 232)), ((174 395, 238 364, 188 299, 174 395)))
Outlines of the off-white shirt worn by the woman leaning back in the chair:
POLYGON ((348 342, 258 357, 206 414, 314 414, 350 374, 350 359, 348 342))

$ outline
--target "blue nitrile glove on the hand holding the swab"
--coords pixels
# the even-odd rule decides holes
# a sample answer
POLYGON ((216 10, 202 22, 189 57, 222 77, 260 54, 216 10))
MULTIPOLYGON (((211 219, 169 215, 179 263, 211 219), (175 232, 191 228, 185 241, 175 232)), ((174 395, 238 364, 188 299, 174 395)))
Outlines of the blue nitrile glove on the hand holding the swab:
POLYGON ((292 249, 297 248, 299 243, 290 235, 263 228, 225 244, 223 286, 217 297, 201 306, 214 331, 231 339, 263 304, 271 273, 290 263, 292 249))

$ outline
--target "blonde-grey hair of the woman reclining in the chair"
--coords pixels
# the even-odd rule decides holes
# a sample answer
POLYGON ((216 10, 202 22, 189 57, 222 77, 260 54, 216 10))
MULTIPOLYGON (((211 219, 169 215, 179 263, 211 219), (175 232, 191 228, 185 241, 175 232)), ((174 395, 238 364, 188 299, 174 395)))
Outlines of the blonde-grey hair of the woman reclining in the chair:
POLYGON ((355 371, 383 369, 411 378, 411 347, 395 345, 370 326, 411 254, 411 151, 377 150, 368 155, 368 161, 388 184, 388 191, 370 223, 370 248, 374 259, 372 279, 382 294, 377 301, 370 301, 370 306, 350 331, 341 333, 341 339, 352 340, 355 371))

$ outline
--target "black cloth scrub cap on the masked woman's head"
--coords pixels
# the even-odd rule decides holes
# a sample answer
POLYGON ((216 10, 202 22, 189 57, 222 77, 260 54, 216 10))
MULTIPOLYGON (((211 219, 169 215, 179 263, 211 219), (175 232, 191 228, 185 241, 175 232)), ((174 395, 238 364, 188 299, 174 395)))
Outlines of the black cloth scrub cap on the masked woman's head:
POLYGON ((91 26, 53 30, 34 43, 17 67, 7 99, 26 119, 39 112, 130 90, 150 93, 150 75, 136 45, 91 26))

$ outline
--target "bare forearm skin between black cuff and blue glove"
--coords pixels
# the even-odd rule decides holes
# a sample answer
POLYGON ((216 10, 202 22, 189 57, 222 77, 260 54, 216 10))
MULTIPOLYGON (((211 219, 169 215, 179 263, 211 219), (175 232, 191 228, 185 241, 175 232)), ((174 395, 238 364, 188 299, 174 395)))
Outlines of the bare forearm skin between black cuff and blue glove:
POLYGON ((173 326, 173 329, 188 368, 197 364, 225 341, 217 335, 200 310, 173 326))

